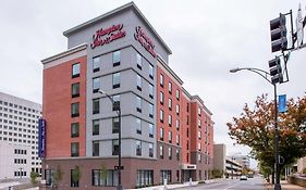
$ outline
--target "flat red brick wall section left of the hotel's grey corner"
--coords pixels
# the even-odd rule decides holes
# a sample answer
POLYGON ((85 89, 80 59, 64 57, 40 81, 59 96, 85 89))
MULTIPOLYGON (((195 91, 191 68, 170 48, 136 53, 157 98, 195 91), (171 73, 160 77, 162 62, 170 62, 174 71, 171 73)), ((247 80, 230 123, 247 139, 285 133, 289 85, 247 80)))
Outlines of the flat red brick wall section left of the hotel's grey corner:
POLYGON ((47 157, 70 157, 72 142, 79 143, 79 156, 85 156, 86 62, 87 56, 81 56, 44 69, 42 114, 47 121, 47 157), (75 63, 79 63, 81 73, 79 77, 72 78, 72 65, 75 63), (72 98, 72 84, 75 83, 79 83, 79 97, 72 98), (74 102, 79 102, 79 116, 72 118, 71 104, 74 102), (71 137, 72 123, 79 123, 79 136, 76 138, 71 137))

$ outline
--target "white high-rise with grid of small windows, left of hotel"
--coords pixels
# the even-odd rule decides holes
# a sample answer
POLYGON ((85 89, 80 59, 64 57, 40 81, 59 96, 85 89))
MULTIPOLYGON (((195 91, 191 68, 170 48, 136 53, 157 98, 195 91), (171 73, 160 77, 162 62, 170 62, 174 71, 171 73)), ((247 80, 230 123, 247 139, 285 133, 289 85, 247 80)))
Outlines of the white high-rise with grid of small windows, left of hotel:
POLYGON ((0 180, 41 173, 38 118, 41 105, 0 92, 0 180))

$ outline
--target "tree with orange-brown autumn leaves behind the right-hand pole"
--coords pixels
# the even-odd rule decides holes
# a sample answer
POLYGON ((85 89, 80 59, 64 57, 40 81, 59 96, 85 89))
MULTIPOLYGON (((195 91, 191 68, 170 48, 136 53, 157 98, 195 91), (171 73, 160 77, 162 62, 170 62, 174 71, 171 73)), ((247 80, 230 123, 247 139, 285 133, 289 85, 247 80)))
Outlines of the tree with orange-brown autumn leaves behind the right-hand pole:
MULTIPOLYGON (((267 94, 257 97, 255 107, 243 107, 238 117, 228 123, 229 135, 240 144, 252 148, 252 155, 265 167, 274 166, 274 104, 267 94)), ((279 114, 279 150, 284 168, 306 155, 306 98, 287 101, 287 112, 279 114)))

